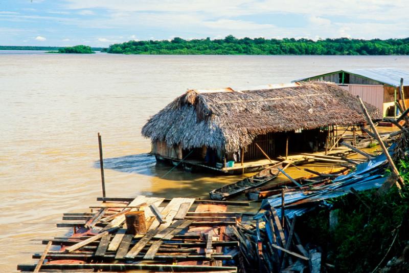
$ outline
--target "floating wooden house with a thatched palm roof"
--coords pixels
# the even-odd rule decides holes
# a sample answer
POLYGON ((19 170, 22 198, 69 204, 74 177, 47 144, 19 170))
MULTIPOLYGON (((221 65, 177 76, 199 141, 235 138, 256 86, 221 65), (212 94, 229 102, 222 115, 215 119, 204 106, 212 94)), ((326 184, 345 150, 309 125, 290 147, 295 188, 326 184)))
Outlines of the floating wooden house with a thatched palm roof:
MULTIPOLYGON (((367 108, 373 119, 381 118, 376 107, 367 108)), ((274 158, 328 148, 334 127, 365 122, 356 96, 333 83, 303 82, 189 90, 152 116, 142 135, 151 139, 157 160, 254 171, 277 163, 274 158)))

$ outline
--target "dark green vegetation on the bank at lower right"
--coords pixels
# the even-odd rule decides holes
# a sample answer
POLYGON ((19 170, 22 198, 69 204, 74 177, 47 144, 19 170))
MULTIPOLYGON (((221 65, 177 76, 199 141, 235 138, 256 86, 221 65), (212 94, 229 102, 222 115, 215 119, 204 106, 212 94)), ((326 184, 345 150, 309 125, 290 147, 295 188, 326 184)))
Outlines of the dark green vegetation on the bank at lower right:
MULTIPOLYGON (((407 159, 401 161, 400 173, 406 185, 408 167, 407 159)), ((335 216, 330 217, 326 208, 319 209, 300 219, 303 228, 299 230, 302 237, 322 248, 327 263, 335 265, 339 272, 406 272, 409 265, 407 186, 401 192, 396 187, 383 195, 372 190, 329 203, 335 216), (333 226, 329 218, 336 218, 333 226)))

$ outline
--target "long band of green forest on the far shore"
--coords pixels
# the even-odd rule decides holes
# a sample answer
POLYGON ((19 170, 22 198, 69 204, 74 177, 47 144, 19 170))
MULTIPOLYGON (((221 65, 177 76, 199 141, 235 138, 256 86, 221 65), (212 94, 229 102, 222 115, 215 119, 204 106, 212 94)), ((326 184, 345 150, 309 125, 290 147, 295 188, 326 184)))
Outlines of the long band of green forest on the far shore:
POLYGON ((232 35, 224 39, 173 38, 172 40, 128 41, 110 45, 117 54, 209 54, 209 55, 408 55, 409 37, 404 39, 265 39, 232 35))

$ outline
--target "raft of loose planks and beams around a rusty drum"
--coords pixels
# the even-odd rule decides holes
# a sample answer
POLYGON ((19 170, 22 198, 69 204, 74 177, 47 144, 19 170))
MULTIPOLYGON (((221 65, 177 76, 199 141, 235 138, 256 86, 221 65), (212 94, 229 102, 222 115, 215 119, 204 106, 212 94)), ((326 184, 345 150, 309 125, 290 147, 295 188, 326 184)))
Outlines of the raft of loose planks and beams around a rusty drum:
MULTIPOLYGON (((115 199, 115 198, 113 198, 115 199)), ((118 200, 123 200, 117 198, 118 200)), ((227 212, 227 204, 194 198, 138 196, 126 202, 90 207, 90 213, 66 213, 58 227, 73 227, 69 237, 43 240, 37 264, 19 264, 24 272, 109 272, 154 270, 170 272, 236 272, 226 261, 239 242, 226 240, 225 227, 237 226, 240 213, 227 212), (144 211, 146 232, 129 234, 126 213, 144 211), (57 247, 56 247, 57 246, 57 247), (46 261, 44 263, 44 261, 46 261), (87 271, 86 271, 87 272, 87 271)))

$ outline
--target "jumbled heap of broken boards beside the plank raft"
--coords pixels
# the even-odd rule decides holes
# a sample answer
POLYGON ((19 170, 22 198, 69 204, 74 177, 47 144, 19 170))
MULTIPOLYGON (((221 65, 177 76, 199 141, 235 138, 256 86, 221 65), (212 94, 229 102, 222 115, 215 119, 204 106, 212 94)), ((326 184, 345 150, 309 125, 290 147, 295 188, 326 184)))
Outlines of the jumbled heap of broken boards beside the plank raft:
POLYGON ((321 253, 303 246, 292 222, 280 219, 274 208, 254 217, 251 224, 229 226, 240 242, 240 272, 309 272, 321 270, 321 253))

